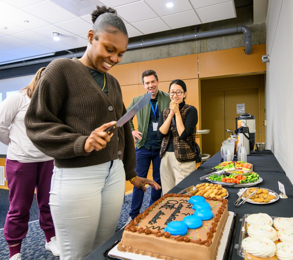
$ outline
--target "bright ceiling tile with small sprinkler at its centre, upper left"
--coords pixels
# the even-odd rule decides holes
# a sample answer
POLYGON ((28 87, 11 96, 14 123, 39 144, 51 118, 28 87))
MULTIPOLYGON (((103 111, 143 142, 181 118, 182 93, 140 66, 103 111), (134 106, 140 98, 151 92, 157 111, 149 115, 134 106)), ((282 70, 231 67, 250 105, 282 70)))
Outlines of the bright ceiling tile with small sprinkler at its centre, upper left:
POLYGON ((50 25, 50 23, 22 10, 16 10, 16 11, 1 15, 1 19, 28 30, 50 25), (25 20, 29 22, 24 22, 25 20))

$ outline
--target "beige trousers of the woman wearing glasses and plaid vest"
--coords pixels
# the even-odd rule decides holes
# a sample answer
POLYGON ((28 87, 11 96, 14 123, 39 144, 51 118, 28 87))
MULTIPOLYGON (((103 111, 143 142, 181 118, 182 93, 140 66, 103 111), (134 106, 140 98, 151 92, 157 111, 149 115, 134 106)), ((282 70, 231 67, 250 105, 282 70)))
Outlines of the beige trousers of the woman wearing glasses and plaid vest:
POLYGON ((195 170, 196 162, 178 162, 175 152, 165 152, 161 160, 160 175, 163 194, 171 190, 195 170))

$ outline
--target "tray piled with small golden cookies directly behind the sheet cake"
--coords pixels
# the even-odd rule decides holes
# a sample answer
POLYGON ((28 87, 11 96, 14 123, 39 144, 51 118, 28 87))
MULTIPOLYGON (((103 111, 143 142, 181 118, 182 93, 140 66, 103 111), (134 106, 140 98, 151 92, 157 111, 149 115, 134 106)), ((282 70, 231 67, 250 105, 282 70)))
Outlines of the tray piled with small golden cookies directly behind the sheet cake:
POLYGON ((218 199, 225 199, 228 197, 228 191, 222 185, 213 183, 200 183, 197 184, 192 191, 186 193, 192 195, 207 197, 216 197, 218 199))

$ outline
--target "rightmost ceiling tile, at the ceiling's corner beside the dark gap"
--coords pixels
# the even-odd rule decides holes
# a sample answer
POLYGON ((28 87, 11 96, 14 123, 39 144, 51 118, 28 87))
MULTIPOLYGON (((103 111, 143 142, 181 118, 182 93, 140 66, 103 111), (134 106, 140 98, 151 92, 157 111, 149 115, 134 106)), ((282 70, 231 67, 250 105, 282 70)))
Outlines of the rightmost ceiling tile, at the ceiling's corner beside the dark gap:
POLYGON ((195 9, 202 23, 214 22, 236 17, 234 2, 226 2, 195 9))

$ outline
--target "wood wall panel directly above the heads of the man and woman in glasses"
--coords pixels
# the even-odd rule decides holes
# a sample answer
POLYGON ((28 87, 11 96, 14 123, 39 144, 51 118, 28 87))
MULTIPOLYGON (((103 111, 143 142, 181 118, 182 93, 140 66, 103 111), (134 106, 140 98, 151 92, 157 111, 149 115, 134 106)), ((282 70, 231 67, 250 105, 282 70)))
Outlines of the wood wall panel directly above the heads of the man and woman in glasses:
POLYGON ((150 69, 157 72, 161 82, 173 79, 195 79, 198 77, 197 54, 139 62, 139 81, 142 72, 150 69))

